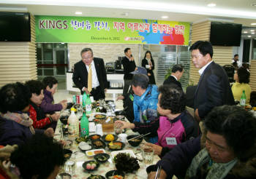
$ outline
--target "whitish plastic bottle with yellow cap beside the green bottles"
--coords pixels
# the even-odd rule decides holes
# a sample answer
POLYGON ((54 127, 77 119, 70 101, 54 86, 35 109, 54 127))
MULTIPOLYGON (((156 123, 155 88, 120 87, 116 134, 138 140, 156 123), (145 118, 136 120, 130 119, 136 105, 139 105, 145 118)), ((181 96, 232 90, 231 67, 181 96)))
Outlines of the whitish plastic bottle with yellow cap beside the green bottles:
POLYGON ((68 124, 68 132, 70 138, 75 138, 79 135, 79 120, 78 117, 75 115, 75 108, 71 108, 71 114, 67 119, 68 124))

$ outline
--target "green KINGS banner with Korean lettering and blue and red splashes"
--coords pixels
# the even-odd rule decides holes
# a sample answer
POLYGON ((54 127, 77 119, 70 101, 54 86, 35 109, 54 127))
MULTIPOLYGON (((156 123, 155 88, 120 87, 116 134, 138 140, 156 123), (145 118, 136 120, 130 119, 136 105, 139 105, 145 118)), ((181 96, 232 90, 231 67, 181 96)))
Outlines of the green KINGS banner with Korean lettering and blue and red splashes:
POLYGON ((37 42, 189 44, 189 23, 36 15, 37 42))

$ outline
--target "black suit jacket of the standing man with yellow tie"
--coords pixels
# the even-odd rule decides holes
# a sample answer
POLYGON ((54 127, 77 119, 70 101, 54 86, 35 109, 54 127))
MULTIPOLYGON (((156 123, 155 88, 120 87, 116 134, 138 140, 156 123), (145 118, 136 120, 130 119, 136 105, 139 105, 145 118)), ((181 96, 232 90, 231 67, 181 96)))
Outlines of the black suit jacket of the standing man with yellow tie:
MULTIPOLYGON (((97 73, 97 78, 99 80, 99 86, 102 90, 108 87, 107 73, 102 58, 94 57, 94 65, 97 73)), ((87 79, 88 72, 86 69, 86 64, 80 60, 74 65, 73 81, 75 85, 82 91, 83 87, 88 87, 87 79)))

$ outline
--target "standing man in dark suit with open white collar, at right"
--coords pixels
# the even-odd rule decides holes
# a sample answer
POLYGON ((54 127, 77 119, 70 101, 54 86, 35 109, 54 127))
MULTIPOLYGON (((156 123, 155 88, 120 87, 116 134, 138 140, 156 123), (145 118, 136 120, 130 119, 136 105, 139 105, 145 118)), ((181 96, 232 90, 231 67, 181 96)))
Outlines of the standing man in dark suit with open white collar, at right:
POLYGON ((195 90, 195 118, 200 121, 215 106, 235 104, 225 70, 214 63, 213 48, 209 41, 196 41, 190 47, 192 63, 200 68, 200 79, 195 90))

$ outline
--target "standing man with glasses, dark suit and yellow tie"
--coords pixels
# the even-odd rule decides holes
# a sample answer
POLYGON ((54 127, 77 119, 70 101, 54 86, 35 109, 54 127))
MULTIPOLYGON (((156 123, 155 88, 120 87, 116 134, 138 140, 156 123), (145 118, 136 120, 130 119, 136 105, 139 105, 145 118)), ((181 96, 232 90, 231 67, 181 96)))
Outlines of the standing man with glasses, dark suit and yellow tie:
POLYGON ((81 90, 81 94, 86 92, 94 100, 105 98, 108 81, 103 59, 94 57, 90 48, 82 49, 80 54, 82 60, 75 63, 72 77, 75 85, 81 90))

